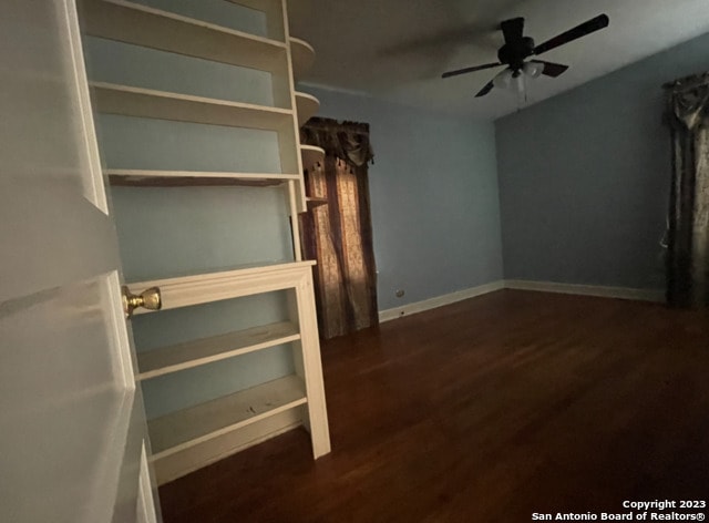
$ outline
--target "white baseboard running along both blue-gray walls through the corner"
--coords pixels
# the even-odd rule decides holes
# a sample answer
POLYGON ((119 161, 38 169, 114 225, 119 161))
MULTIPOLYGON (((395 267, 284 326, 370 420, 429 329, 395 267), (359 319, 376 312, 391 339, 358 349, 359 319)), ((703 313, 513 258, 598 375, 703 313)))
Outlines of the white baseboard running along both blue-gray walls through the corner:
POLYGON ((424 310, 435 309, 444 305, 454 304, 464 299, 482 296, 501 289, 537 290, 541 293, 558 293, 578 296, 596 296, 599 298, 630 299, 636 301, 665 301, 664 290, 633 289, 626 287, 603 287, 595 285, 555 284, 553 281, 528 281, 521 279, 505 279, 492 281, 470 289, 458 290, 455 293, 436 296, 413 304, 402 305, 392 309, 379 312, 379 322, 391 321, 392 319, 411 316, 424 310))

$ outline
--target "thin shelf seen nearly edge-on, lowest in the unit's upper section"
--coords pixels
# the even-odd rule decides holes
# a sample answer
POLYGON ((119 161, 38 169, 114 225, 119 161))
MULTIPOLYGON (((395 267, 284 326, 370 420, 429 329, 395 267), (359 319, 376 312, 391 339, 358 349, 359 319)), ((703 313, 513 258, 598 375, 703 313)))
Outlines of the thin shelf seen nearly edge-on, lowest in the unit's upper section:
POLYGON ((105 170, 111 185, 129 185, 140 187, 184 187, 214 185, 248 185, 269 186, 280 185, 289 181, 298 181, 297 174, 263 174, 263 173, 222 173, 197 171, 140 171, 140 170, 105 170))

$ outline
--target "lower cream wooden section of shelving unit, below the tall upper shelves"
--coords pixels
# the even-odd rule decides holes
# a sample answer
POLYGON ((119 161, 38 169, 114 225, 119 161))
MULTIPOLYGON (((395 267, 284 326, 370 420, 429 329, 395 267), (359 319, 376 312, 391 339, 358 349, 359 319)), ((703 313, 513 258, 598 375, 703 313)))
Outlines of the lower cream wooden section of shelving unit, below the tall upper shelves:
MULTIPOLYGON (((171 481, 196 468, 183 458, 183 451, 186 449, 203 445, 199 452, 204 457, 201 460, 204 463, 212 462, 214 455, 222 455, 224 450, 222 447, 210 450, 209 441, 216 442, 229 432, 245 429, 268 418, 276 419, 285 411, 300 406, 305 406, 306 410, 298 416, 302 418, 304 423, 307 420, 314 455, 318 458, 330 451, 312 295, 314 264, 298 262, 253 266, 129 285, 132 293, 150 287, 160 288, 163 301, 161 310, 276 290, 291 293, 291 317, 288 321, 203 338, 138 355, 138 380, 148 380, 285 343, 292 345, 296 359, 296 375, 292 377, 189 407, 150 422, 151 441, 156 452, 153 462, 160 483, 171 481), (153 441, 153 435, 156 441, 153 441)), ((138 309, 136 314, 155 315, 160 311, 138 309)), ((279 431, 278 428, 269 430, 271 433, 279 431)), ((250 441, 261 440, 263 434, 257 432, 250 441)), ((238 441, 239 448, 249 444, 248 440, 238 441)))

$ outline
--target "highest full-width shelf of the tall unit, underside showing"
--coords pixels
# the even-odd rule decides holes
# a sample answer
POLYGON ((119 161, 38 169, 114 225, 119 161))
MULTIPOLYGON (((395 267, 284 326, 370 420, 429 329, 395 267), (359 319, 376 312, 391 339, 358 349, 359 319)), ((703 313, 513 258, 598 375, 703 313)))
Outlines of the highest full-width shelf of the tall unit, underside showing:
POLYGON ((92 37, 261 71, 282 68, 286 43, 123 0, 82 0, 92 37))

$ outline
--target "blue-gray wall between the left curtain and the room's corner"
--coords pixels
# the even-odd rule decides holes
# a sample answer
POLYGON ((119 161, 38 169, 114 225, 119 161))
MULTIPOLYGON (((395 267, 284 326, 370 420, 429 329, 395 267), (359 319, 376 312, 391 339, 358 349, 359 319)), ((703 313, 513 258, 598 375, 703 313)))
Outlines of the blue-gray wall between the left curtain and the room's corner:
POLYGON ((318 115, 370 124, 380 310, 502 278, 492 123, 299 89, 320 100, 318 115))

